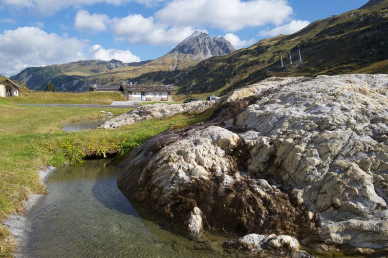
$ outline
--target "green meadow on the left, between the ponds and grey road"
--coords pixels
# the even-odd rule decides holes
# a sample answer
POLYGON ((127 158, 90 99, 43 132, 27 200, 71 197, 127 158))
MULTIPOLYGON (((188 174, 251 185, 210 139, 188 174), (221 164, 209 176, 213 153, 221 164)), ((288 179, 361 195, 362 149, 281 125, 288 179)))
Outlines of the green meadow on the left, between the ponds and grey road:
MULTIPOLYGON (((82 162, 86 157, 123 155, 150 137, 171 126, 185 127, 204 119, 178 115, 152 119, 114 130, 87 130, 67 133, 61 127, 69 121, 98 116, 101 109, 62 107, 23 107, 0 100, 0 222, 6 214, 23 212, 23 200, 31 193, 43 194, 39 169, 65 162, 82 162)), ((123 113, 125 109, 109 109, 123 113)), ((9 232, 0 223, 0 257, 11 257, 15 247, 9 232)))

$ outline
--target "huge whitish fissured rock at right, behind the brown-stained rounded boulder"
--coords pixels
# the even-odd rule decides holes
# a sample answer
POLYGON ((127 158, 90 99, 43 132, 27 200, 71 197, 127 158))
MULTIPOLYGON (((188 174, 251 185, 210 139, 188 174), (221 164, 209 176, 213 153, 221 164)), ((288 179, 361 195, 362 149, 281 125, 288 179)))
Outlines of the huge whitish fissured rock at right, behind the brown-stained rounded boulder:
POLYGON ((281 179, 319 215, 305 243, 387 248, 387 84, 387 75, 279 79, 235 119, 249 172, 281 179))

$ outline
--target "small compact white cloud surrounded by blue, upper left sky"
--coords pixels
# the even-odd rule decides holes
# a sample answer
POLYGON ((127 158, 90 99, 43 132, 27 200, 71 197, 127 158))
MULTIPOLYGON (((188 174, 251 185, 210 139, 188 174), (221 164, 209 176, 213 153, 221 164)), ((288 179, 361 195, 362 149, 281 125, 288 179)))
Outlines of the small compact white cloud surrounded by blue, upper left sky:
POLYGON ((74 26, 81 31, 101 32, 107 30, 107 21, 108 16, 104 14, 91 15, 87 11, 81 10, 75 16, 74 26))

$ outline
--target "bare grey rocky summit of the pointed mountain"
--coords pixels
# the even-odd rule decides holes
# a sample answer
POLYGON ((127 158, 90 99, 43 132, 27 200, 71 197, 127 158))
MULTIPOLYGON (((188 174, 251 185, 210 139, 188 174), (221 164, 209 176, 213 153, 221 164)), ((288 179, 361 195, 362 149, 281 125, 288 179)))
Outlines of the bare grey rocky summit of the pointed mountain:
POLYGON ((223 37, 211 38, 208 34, 200 31, 194 32, 180 42, 170 51, 172 53, 202 56, 203 59, 213 56, 223 56, 234 52, 236 49, 223 37))

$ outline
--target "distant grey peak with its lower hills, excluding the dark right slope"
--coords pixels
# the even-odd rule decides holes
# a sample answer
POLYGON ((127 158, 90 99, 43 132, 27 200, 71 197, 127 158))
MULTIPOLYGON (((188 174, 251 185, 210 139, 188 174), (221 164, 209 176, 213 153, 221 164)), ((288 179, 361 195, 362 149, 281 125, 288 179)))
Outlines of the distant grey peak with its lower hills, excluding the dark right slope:
POLYGON ((223 37, 194 32, 169 53, 155 60, 123 63, 119 60, 84 60, 24 69, 11 79, 23 81, 32 90, 44 90, 51 81, 57 91, 85 91, 92 84, 119 84, 148 72, 188 68, 198 62, 231 54, 236 49, 223 37))

